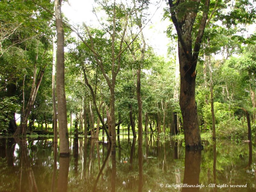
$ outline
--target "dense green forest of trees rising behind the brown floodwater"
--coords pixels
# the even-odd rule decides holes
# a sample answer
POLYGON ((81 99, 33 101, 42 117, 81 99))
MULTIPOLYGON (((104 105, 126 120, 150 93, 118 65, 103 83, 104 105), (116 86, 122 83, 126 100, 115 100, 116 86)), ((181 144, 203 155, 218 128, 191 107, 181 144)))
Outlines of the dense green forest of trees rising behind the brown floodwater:
POLYGON ((120 131, 133 137, 185 133, 189 146, 201 145, 200 134, 255 134, 254 0, 95 1, 88 14, 93 25, 88 19, 76 25, 65 12, 58 17, 54 3, 0 1, 1 134, 51 134, 61 116, 58 19, 67 133, 97 138, 104 130, 114 142, 120 131), (168 22, 161 29, 170 41, 166 54, 152 43, 160 37, 148 38, 159 26, 152 20, 168 22))

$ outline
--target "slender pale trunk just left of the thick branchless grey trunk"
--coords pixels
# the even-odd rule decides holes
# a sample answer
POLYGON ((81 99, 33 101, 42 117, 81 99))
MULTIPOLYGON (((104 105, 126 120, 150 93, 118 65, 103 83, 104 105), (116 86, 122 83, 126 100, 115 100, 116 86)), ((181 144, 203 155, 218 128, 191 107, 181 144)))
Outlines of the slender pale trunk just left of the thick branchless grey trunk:
MULTIPOLYGON (((53 43, 53 56, 52 56, 52 107, 53 107, 53 132, 54 132, 54 143, 58 142, 58 125, 57 125, 57 108, 56 108, 56 98, 55 98, 55 65, 56 65, 56 37, 55 35, 52 37, 53 43)), ((70 124, 71 129, 71 124, 70 124)), ((71 134, 70 134, 71 135, 71 134)))

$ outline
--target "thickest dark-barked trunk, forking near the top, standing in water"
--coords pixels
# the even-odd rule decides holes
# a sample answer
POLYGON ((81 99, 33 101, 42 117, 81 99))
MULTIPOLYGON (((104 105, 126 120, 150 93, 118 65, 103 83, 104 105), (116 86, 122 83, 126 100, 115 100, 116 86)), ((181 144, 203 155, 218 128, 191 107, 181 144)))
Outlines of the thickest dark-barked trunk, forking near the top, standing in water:
POLYGON ((201 137, 199 133, 199 124, 197 118, 197 109, 195 101, 196 87, 196 64, 200 51, 201 41, 204 34, 204 28, 208 16, 210 0, 205 0, 202 19, 197 30, 194 49, 192 51, 192 29, 196 19, 198 6, 188 8, 182 18, 177 17, 180 10, 177 5, 183 1, 177 1, 173 4, 168 1, 170 6, 172 22, 177 31, 179 40, 179 62, 180 62, 180 109, 183 117, 183 128, 185 134, 185 144, 189 148, 201 148, 201 137), (196 8, 196 9, 195 9, 196 8), (182 23, 182 24, 181 24, 182 23))

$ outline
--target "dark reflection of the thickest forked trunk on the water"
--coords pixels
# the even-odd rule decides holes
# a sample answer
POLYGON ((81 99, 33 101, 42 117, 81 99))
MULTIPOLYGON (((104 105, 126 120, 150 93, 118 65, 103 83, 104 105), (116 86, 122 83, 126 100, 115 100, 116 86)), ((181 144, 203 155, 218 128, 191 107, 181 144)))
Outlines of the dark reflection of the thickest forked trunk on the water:
MULTIPOLYGON (((200 164, 201 149, 198 151, 189 151, 186 149, 183 183, 188 185, 199 184, 200 164)), ((182 188, 181 191, 199 191, 199 188, 182 188)))

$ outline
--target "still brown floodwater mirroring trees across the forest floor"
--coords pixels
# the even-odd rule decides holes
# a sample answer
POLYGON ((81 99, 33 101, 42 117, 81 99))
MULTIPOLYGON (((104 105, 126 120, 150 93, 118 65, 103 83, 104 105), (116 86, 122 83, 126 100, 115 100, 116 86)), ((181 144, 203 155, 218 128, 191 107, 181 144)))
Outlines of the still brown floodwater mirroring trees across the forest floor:
POLYGON ((66 158, 52 139, 0 139, 0 191, 256 191, 254 143, 204 141, 195 152, 168 137, 143 135, 139 148, 120 135, 111 153, 100 139, 71 139, 66 158))

